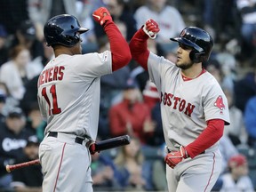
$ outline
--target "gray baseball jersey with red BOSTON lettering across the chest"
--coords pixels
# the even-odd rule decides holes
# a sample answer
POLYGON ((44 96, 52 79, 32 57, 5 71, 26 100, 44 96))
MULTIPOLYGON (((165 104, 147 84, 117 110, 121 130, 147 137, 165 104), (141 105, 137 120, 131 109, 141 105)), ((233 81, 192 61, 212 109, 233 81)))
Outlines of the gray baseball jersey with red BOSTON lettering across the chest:
POLYGON ((150 53, 148 73, 161 92, 161 115, 168 147, 187 146, 196 140, 208 120, 223 119, 229 124, 228 101, 209 72, 186 81, 175 64, 150 53))

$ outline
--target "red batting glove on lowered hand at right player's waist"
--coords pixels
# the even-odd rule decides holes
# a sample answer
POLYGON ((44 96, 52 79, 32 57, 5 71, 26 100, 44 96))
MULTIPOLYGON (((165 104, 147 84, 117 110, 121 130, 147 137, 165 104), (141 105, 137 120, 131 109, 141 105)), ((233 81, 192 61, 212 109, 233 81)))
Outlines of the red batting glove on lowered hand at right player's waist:
POLYGON ((183 146, 180 146, 180 150, 168 153, 164 158, 164 162, 173 169, 182 159, 186 158, 188 158, 188 153, 183 146))

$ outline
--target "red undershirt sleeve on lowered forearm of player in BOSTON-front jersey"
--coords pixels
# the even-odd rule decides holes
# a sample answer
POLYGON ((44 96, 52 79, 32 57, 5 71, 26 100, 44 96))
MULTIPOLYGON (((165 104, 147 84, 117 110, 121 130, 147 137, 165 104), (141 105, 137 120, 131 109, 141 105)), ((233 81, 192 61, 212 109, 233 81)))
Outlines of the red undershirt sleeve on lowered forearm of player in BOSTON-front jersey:
POLYGON ((207 122, 207 127, 196 140, 188 144, 185 149, 191 158, 201 154, 207 148, 210 148, 223 135, 225 122, 222 119, 212 119, 207 122))

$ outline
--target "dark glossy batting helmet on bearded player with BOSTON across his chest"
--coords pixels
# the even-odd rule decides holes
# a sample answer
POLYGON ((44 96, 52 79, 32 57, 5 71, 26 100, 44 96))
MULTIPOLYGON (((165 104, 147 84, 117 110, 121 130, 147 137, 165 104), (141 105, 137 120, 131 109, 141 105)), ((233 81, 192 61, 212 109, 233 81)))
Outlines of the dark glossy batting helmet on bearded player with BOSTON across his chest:
POLYGON ((184 28, 179 37, 170 38, 172 41, 179 42, 191 47, 189 57, 194 62, 207 61, 212 52, 213 40, 209 33, 202 28, 184 28))

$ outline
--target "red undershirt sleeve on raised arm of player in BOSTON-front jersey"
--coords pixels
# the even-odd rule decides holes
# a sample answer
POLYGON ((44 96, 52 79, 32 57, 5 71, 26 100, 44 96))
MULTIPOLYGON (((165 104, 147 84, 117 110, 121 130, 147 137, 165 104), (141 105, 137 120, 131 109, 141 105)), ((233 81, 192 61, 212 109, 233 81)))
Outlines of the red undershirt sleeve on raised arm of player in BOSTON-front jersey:
POLYGON ((148 71, 148 35, 140 28, 129 44, 132 53, 132 59, 136 60, 142 68, 148 71))

